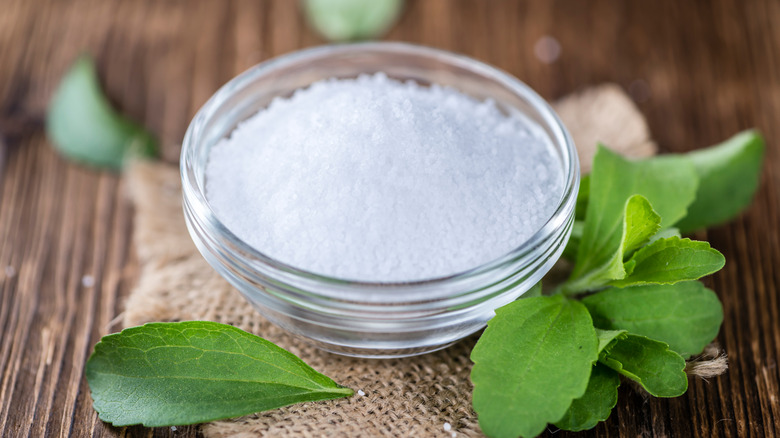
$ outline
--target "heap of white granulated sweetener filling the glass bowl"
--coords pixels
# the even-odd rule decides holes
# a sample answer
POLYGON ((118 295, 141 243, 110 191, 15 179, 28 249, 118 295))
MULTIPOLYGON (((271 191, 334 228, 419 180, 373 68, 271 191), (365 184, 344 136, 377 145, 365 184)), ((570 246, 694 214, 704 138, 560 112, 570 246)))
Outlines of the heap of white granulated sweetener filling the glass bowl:
POLYGON ((206 187, 217 217, 269 257, 403 282, 518 247, 552 216, 561 167, 530 120, 380 73, 274 100, 215 145, 206 187))

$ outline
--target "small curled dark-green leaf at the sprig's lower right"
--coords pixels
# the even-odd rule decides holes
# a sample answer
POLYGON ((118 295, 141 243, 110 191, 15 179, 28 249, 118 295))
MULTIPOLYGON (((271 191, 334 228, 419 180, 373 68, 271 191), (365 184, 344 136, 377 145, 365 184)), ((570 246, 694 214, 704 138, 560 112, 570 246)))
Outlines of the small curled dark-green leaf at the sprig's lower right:
POLYGON ((688 389, 685 359, 663 342, 628 334, 601 352, 599 362, 639 383, 655 397, 677 397, 688 389))

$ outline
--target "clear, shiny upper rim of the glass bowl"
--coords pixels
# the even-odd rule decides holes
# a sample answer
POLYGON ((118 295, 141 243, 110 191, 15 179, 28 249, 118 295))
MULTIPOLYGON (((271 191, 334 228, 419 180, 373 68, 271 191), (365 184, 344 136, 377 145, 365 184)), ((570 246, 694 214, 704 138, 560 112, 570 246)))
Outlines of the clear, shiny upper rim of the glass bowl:
POLYGON ((395 295, 397 300, 388 297, 388 301, 390 302, 397 302, 399 300, 405 301, 406 298, 403 297, 404 294, 399 293, 403 289, 418 289, 420 287, 428 289, 440 284, 467 281, 470 278, 480 276, 488 271, 517 263, 519 259, 532 257, 537 248, 540 245, 544 245, 544 242, 548 241, 560 227, 564 226, 569 219, 569 216, 573 214, 580 177, 579 159, 577 157, 574 141, 569 135, 569 132, 552 107, 528 85, 496 67, 492 67, 473 58, 441 49, 400 42, 368 42, 318 46, 284 54, 249 68, 220 87, 220 89, 214 93, 214 95, 212 95, 212 97, 195 114, 195 117, 187 128, 182 143, 180 171, 185 203, 189 203, 193 210, 193 214, 199 216, 199 221, 209 223, 218 230, 220 234, 219 238, 225 240, 238 252, 246 267, 250 269, 254 267, 255 270, 261 268, 260 270, 264 271, 267 271, 268 268, 270 268, 273 271, 278 271, 285 275, 289 274, 301 279, 331 284, 336 287, 342 286, 350 289, 360 288, 369 293, 375 288, 377 291, 393 288, 395 291, 393 295, 395 295), (192 162, 197 157, 194 149, 201 141, 199 135, 205 127, 209 117, 229 96, 234 94, 236 90, 241 90, 264 74, 293 64, 305 63, 307 60, 319 59, 324 56, 360 54, 361 52, 371 52, 374 54, 411 54, 433 58, 440 60, 443 63, 466 68, 485 78, 500 83, 536 110, 544 123, 549 127, 552 134, 551 140, 563 145, 562 152, 564 154, 562 157, 565 172, 564 191, 555 212, 547 222, 545 222, 545 224, 528 240, 497 259, 459 273, 409 282, 359 281, 329 277, 306 271, 265 255, 233 234, 212 210, 206 199, 205 187, 202 182, 198 181, 197 176, 193 171, 192 162))

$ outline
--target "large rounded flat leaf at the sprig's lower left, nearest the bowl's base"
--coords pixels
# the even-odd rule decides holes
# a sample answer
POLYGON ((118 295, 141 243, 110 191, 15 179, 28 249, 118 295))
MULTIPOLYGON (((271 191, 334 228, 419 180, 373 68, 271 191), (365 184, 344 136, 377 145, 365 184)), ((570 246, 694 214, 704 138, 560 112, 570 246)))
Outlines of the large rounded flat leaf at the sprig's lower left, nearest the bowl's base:
POLYGON ((471 353, 473 403, 488 436, 532 437, 582 397, 598 340, 587 309, 561 295, 496 311, 471 353))

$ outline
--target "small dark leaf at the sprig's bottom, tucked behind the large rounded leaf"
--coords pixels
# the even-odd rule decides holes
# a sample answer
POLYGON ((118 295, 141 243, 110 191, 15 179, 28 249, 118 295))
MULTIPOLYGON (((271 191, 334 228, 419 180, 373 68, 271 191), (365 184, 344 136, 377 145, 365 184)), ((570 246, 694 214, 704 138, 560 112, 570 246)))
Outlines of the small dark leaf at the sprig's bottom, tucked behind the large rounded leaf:
POLYGON ((555 423, 561 429, 577 432, 591 429, 609 418, 617 404, 617 389, 620 386, 618 373, 611 368, 596 364, 590 373, 585 395, 575 399, 569 410, 555 423))

